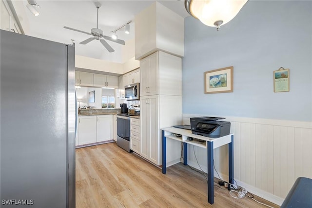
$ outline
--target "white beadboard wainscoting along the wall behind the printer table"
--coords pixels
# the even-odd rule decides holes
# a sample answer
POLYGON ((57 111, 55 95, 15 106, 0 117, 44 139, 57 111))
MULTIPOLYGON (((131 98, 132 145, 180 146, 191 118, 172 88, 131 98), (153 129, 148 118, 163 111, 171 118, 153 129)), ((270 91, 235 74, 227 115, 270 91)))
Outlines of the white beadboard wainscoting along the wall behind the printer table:
MULTIPOLYGON (((183 114, 183 124, 189 125, 190 118, 199 116, 205 115, 183 114)), ((231 122, 234 179, 239 186, 281 205, 298 177, 312 178, 311 122, 210 116, 231 122)), ((188 164, 207 173, 206 151, 196 146, 193 151, 188 145, 188 164)), ((220 177, 228 181, 228 146, 215 149, 214 159, 220 177)))

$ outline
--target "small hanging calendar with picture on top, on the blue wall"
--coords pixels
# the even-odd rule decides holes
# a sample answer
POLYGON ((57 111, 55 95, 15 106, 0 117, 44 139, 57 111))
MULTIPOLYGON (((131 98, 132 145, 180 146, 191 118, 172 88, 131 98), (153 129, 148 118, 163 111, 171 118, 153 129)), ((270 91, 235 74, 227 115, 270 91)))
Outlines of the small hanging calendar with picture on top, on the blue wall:
POLYGON ((273 71, 274 92, 289 92, 289 69, 273 71))

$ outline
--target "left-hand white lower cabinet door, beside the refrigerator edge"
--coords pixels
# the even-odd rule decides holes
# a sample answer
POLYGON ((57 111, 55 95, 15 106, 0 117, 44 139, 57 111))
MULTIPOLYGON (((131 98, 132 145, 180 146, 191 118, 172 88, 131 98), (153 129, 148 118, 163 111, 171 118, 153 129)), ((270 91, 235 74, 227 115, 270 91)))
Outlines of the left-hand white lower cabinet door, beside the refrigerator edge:
POLYGON ((97 116, 79 116, 78 145, 97 142, 97 116))

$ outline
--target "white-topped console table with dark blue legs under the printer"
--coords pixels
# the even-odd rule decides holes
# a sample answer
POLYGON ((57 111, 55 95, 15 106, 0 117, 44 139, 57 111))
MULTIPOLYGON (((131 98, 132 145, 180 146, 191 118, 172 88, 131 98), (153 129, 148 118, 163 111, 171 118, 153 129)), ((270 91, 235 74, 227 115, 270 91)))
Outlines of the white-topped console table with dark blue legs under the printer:
MULTIPOLYGON (((191 130, 170 127, 162 129, 162 173, 166 174, 166 139, 173 139, 183 143, 183 164, 187 165, 187 144, 199 146, 207 149, 207 167, 208 167, 208 203, 214 204, 214 149, 227 145, 229 146, 229 183, 233 184, 234 179, 234 155, 233 140, 234 134, 229 134, 219 138, 204 137, 192 134, 191 130), (173 134, 180 134, 176 137, 173 134), (194 140, 187 140, 192 137, 194 140)), ((231 186, 228 186, 231 189, 231 186)))

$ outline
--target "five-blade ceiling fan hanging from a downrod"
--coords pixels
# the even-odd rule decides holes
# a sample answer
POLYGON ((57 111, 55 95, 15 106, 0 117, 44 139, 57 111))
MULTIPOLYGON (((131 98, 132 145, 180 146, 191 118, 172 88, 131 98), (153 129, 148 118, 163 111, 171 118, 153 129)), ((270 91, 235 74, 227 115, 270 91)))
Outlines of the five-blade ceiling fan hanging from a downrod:
POLYGON ((94 4, 97 7, 97 28, 92 28, 91 33, 84 32, 84 31, 74 29, 74 28, 70 28, 70 27, 66 27, 66 26, 64 26, 64 28, 93 36, 93 37, 88 38, 82 42, 79 42, 80 44, 87 44, 88 42, 91 42, 93 40, 99 40, 99 42, 101 42, 109 52, 114 52, 115 50, 104 39, 106 39, 108 41, 112 41, 112 42, 117 42, 117 43, 122 44, 122 45, 124 45, 125 42, 123 40, 120 40, 120 39, 115 40, 109 36, 105 36, 105 35, 103 35, 103 31, 101 29, 98 29, 98 9, 101 7, 101 4, 98 1, 95 1, 94 4), (104 39, 101 39, 101 38, 104 38, 104 39))

